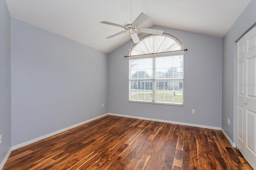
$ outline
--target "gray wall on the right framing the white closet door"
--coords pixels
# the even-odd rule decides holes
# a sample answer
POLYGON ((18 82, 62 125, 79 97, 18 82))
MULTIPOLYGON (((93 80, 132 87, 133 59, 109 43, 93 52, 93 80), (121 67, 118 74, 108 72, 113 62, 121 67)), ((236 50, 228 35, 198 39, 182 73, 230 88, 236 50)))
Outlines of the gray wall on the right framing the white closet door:
POLYGON ((252 0, 223 38, 222 128, 236 143, 236 40, 256 22, 252 0), (230 125, 227 119, 230 119, 230 125))

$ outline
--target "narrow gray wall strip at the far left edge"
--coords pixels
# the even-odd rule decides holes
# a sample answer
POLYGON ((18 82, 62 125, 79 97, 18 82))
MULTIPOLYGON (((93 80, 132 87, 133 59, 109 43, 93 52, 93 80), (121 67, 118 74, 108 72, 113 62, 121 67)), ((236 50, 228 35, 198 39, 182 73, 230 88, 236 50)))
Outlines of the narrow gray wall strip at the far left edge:
POLYGON ((11 148, 11 41, 10 14, 0 0, 0 164, 11 148))

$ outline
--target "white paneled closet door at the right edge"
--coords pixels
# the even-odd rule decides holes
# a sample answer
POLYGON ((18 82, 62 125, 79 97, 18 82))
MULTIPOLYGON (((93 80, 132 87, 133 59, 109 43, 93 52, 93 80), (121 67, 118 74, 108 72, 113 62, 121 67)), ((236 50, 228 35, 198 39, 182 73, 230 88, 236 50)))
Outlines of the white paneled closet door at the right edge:
POLYGON ((237 43, 237 147, 256 170, 256 27, 237 43))

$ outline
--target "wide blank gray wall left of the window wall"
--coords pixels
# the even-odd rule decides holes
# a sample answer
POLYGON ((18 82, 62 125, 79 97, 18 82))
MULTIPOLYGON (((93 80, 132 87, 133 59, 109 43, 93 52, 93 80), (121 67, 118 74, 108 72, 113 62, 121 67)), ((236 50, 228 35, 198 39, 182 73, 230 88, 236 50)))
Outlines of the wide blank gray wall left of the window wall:
POLYGON ((106 53, 15 18, 11 49, 12 146, 108 112, 106 53))

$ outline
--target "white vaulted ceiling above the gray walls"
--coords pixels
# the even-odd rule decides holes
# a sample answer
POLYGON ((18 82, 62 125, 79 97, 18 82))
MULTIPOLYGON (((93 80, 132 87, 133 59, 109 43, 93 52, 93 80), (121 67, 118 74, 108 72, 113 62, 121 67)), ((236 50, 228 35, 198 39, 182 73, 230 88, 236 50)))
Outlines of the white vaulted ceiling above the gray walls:
MULTIPOLYGON (((132 0, 132 20, 142 12, 151 16, 142 26, 159 25, 224 37, 250 0, 132 0)), ((10 16, 110 53, 128 42, 121 27, 130 21, 130 0, 6 0, 10 16)))

